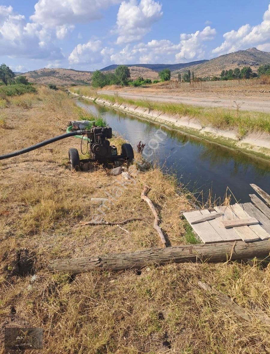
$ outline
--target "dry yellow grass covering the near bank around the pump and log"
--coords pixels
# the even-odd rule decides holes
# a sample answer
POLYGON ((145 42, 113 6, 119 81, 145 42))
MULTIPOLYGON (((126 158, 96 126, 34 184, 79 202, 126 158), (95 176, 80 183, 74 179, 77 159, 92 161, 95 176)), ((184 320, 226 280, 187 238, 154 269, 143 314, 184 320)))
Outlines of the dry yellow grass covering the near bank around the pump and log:
MULTIPOLYGON (((11 100, 2 109, 13 128, 0 126, 2 153, 61 133, 68 120, 86 114, 59 91, 40 88, 37 95, 20 99, 31 102, 30 108, 11 100)), ((119 147, 121 138, 114 143, 119 147)), ((171 244, 189 240, 178 216, 189 206, 172 177, 150 169, 119 189, 121 176, 108 176, 100 166, 70 172, 67 152, 79 144, 79 139, 65 139, 50 145, 52 150, 44 147, 0 164, 0 338, 4 326, 19 325, 43 328, 40 352, 47 354, 269 352, 269 326, 243 321, 197 286, 197 280, 207 282, 241 307, 255 303, 270 316, 269 267, 169 264, 141 273, 97 271, 72 278, 47 272, 55 258, 161 247, 153 215, 140 199, 144 184, 151 187, 149 197, 171 244), (130 234, 117 226, 78 225, 96 212, 91 197, 107 197, 106 192, 113 203, 105 220, 144 219, 125 225, 130 234), (34 277, 11 274, 16 251, 24 247, 35 261, 34 277)))

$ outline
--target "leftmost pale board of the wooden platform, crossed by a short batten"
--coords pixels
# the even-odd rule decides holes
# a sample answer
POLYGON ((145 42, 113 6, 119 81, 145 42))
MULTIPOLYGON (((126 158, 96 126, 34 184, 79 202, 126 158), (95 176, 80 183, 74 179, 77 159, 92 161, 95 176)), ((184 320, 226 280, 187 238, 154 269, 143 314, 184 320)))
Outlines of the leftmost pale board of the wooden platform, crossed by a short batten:
MULTIPOLYGON (((196 210, 192 213, 184 213, 184 217, 189 223, 201 218, 201 216, 202 213, 200 210, 196 210)), ((223 241, 219 234, 208 223, 208 221, 202 222, 200 224, 194 224, 191 226, 196 232, 196 234, 199 236, 199 238, 202 240, 202 242, 204 242, 205 244, 223 241)))

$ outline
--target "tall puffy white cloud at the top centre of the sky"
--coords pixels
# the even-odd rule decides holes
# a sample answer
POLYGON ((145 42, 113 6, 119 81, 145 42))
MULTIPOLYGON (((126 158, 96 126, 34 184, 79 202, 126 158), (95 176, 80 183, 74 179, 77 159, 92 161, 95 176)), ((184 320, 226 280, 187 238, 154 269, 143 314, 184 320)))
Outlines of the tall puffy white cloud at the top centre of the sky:
POLYGON ((162 5, 154 0, 123 1, 117 13, 117 44, 139 41, 162 17, 162 5))

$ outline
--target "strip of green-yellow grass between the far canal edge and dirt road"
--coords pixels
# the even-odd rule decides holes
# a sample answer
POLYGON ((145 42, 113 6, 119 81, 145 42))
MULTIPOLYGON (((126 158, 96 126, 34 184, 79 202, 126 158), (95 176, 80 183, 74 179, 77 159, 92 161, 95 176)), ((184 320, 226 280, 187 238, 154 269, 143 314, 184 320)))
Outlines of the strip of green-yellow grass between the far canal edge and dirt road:
POLYGON ((218 129, 235 128, 239 139, 244 137, 248 132, 264 132, 270 133, 270 113, 248 112, 242 111, 241 108, 224 109, 224 108, 205 108, 195 107, 186 104, 176 103, 160 103, 150 100, 133 100, 122 98, 118 95, 105 95, 93 91, 91 87, 71 87, 70 91, 83 94, 85 96, 104 98, 112 103, 126 103, 137 107, 147 108, 149 110, 157 110, 169 115, 178 115, 179 117, 188 116, 199 120, 202 127, 212 126, 218 129))

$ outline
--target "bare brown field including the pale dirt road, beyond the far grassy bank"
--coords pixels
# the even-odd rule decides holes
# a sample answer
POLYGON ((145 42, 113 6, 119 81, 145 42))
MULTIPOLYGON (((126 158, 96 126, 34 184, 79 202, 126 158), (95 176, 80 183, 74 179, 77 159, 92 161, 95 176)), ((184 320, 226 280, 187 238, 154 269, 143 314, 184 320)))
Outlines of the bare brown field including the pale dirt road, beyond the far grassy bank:
POLYGON ((131 99, 147 98, 159 102, 231 109, 235 109, 239 104, 241 110, 270 112, 270 84, 261 85, 258 80, 209 81, 193 85, 188 82, 178 85, 173 81, 148 87, 117 87, 113 90, 106 87, 100 90, 100 93, 112 95, 115 91, 120 96, 131 99))

